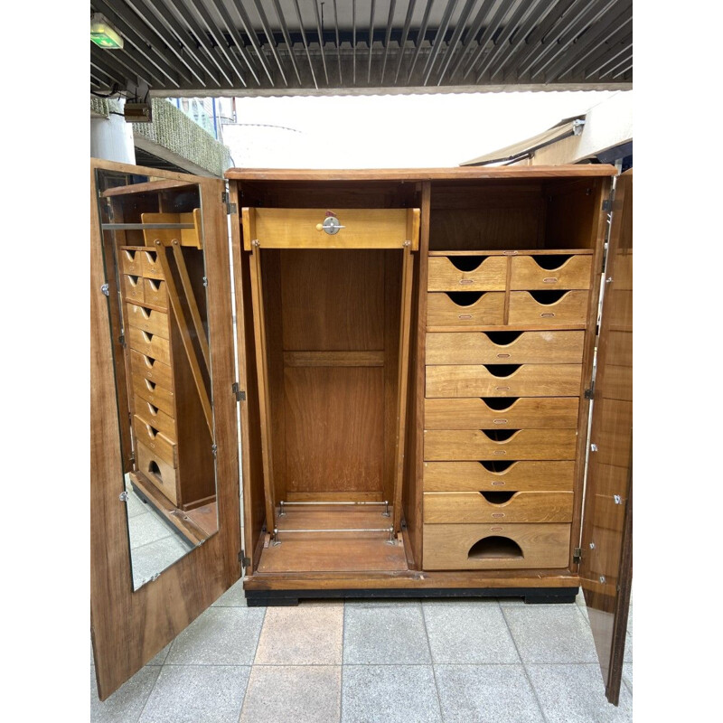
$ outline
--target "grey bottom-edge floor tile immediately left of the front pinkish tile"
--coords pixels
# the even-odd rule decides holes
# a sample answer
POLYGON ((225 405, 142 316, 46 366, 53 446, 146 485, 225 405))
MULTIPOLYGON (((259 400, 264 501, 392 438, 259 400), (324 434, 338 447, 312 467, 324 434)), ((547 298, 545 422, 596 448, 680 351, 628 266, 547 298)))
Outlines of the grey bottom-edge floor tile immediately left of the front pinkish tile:
POLYGON ((237 723, 250 670, 165 665, 139 723, 237 723))

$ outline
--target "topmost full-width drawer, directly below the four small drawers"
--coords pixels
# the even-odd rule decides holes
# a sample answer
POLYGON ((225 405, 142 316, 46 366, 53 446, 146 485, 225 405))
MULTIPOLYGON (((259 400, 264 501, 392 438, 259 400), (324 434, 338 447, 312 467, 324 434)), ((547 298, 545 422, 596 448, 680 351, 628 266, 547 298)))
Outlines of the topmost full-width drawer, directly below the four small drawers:
POLYGON ((427 364, 580 364, 585 332, 433 332, 427 364))

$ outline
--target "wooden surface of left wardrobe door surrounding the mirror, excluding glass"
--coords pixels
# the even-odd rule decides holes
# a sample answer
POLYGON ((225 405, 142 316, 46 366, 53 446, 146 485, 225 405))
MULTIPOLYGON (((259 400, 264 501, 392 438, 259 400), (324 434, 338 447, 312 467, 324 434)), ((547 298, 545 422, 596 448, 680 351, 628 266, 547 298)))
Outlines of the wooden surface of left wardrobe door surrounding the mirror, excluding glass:
POLYGON ((90 169, 90 630, 99 697, 105 700, 239 579, 239 457, 223 183, 97 160, 90 169), (144 175, 159 184, 169 180, 198 184, 209 280, 219 531, 135 592, 126 509, 118 498, 123 491, 124 465, 108 298, 101 292, 108 277, 99 229, 97 169, 144 175))

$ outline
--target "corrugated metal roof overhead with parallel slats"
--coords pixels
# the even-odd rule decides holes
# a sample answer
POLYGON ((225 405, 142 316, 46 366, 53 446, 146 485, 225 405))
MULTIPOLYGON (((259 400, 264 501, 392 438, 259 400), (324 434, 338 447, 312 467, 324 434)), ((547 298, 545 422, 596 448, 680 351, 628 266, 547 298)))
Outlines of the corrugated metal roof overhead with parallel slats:
POLYGON ((90 89, 233 96, 629 89, 631 0, 91 0, 90 89))

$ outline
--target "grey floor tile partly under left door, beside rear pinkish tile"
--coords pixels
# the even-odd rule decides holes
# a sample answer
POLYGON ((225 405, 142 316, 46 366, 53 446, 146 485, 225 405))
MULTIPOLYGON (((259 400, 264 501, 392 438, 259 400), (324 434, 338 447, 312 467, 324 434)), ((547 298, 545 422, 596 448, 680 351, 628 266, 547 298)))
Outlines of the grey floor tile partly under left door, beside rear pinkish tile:
POLYGON ((250 665, 264 608, 210 607, 179 634, 166 665, 250 665))

